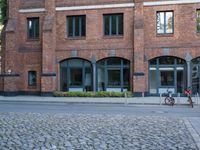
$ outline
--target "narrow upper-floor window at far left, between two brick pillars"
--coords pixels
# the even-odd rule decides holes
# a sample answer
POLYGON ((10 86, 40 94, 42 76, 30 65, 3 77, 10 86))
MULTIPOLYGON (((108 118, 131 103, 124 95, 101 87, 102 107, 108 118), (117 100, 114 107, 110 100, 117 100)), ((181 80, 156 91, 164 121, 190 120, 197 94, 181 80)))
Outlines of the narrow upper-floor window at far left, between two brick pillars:
POLYGON ((28 18, 28 38, 37 39, 39 38, 39 18, 28 18))

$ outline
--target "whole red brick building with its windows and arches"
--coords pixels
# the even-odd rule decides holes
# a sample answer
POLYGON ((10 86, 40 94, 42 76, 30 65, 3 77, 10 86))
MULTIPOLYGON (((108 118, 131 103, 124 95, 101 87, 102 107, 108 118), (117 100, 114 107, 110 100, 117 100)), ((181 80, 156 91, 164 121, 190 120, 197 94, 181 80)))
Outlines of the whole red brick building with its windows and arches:
POLYGON ((2 94, 200 91, 200 0, 9 0, 2 94))

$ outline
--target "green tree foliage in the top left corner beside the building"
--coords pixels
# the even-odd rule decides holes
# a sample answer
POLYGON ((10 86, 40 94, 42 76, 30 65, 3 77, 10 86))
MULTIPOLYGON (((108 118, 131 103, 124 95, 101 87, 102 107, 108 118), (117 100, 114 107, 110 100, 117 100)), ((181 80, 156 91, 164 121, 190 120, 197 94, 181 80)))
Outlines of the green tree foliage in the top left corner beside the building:
POLYGON ((7 20, 7 0, 0 0, 0 24, 7 20))

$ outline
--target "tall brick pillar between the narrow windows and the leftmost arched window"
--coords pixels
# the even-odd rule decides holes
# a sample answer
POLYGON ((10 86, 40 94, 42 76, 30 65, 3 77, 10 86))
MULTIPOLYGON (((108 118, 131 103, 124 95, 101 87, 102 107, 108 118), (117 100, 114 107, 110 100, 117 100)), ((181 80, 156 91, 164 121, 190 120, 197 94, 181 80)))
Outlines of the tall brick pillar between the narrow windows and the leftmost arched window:
POLYGON ((42 36, 42 95, 52 94, 56 90, 56 26, 55 0, 45 0, 46 15, 43 24, 42 36))

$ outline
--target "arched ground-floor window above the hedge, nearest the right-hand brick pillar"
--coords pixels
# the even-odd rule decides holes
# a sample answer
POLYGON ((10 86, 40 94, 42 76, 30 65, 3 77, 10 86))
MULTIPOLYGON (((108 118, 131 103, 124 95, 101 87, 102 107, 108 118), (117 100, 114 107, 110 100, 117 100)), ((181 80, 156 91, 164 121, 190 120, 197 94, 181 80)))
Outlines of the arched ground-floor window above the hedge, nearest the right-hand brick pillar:
POLYGON ((130 62, 121 58, 107 58, 97 63, 98 91, 129 91, 130 62))

